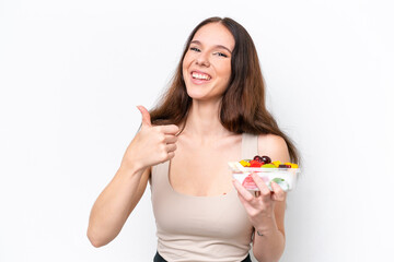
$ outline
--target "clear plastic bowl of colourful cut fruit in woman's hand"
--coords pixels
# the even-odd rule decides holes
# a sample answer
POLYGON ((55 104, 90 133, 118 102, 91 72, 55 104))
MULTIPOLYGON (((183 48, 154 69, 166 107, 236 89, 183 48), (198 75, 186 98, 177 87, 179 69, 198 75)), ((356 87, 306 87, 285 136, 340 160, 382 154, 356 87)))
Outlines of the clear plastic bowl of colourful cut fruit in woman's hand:
POLYGON ((267 187, 273 190, 271 182, 276 182, 283 191, 294 189, 297 176, 300 168, 294 163, 271 162, 269 156, 256 155, 253 159, 242 159, 240 162, 229 162, 233 178, 251 191, 259 191, 252 178, 252 174, 257 174, 267 187))

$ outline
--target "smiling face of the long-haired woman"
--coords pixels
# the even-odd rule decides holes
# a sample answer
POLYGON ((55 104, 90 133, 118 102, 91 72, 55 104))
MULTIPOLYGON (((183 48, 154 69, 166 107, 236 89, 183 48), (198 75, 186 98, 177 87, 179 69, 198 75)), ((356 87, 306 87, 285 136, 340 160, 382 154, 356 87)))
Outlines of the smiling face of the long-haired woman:
POLYGON ((183 60, 187 94, 193 99, 220 99, 231 76, 231 52, 235 40, 220 23, 199 28, 183 60))

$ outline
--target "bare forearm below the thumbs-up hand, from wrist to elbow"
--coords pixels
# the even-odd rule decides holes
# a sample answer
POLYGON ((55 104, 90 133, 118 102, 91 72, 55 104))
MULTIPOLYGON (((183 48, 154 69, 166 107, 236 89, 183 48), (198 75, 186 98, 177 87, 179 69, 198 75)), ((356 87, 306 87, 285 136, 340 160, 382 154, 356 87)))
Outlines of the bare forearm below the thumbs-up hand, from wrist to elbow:
POLYGON ((143 170, 123 169, 95 201, 89 219, 88 237, 94 247, 112 241, 137 205, 143 170))

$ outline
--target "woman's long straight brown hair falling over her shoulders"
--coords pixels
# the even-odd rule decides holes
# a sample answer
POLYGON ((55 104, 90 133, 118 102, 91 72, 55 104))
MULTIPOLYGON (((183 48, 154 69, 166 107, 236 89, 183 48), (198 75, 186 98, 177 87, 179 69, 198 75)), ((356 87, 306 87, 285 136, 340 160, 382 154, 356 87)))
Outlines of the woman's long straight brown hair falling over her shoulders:
POLYGON ((184 123, 190 109, 192 98, 187 95, 182 73, 184 57, 196 32, 206 24, 221 23, 233 35, 235 46, 231 55, 231 76, 221 107, 220 121, 234 133, 276 134, 285 139, 291 162, 299 156, 290 139, 280 131, 276 120, 265 105, 265 84, 257 51, 246 29, 229 17, 210 17, 199 23, 190 33, 181 61, 161 102, 150 112, 153 124, 184 123))

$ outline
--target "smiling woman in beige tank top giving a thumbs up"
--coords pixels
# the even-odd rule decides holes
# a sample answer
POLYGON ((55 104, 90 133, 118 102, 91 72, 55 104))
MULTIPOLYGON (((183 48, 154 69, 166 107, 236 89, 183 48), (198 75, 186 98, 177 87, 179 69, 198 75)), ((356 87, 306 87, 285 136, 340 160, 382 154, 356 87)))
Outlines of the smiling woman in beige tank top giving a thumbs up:
POLYGON ((88 237, 101 247, 120 231, 148 181, 158 227, 154 261, 278 261, 286 193, 263 180, 252 195, 227 163, 254 155, 297 162, 294 146, 265 108, 257 53, 231 19, 202 21, 190 34, 160 105, 142 124, 97 198, 88 237))

